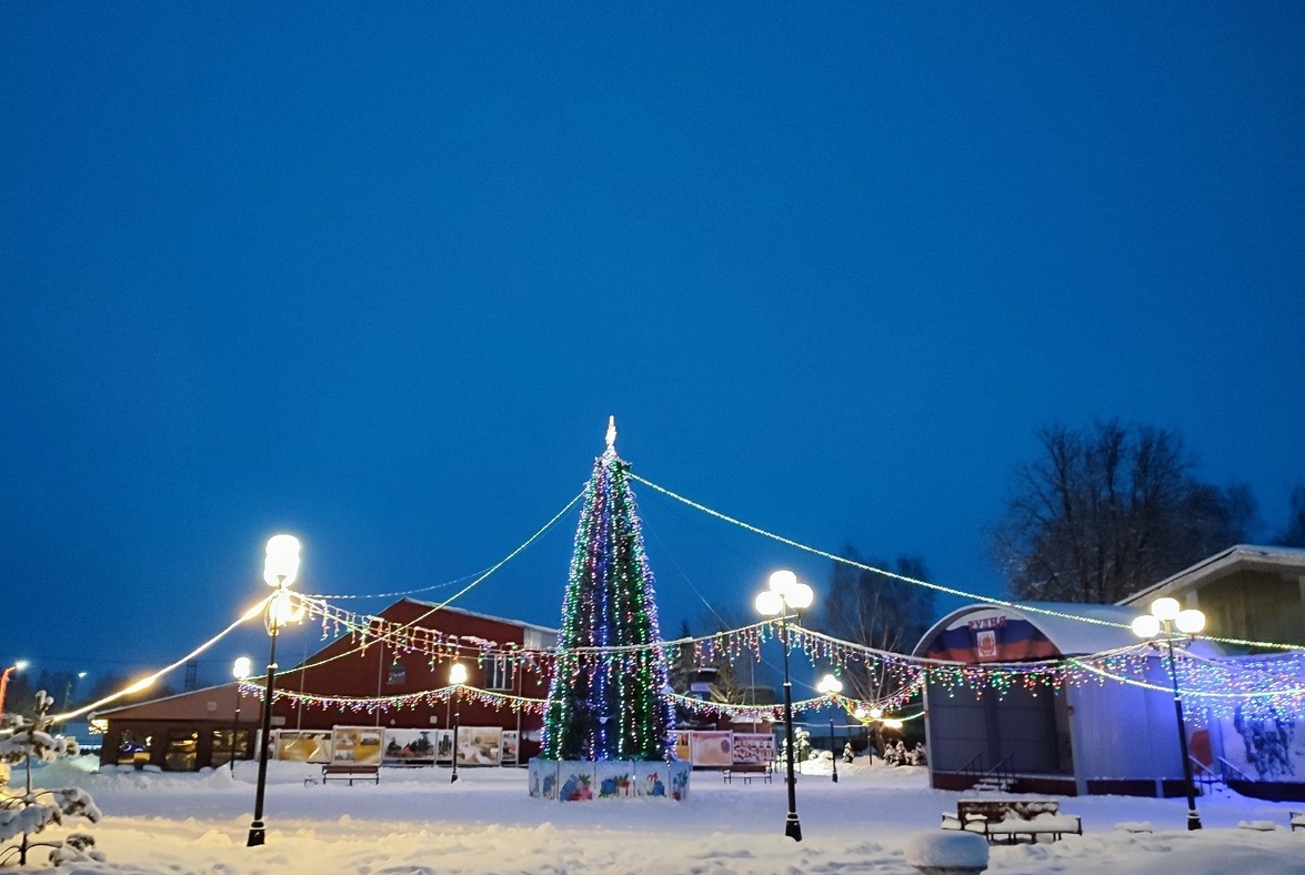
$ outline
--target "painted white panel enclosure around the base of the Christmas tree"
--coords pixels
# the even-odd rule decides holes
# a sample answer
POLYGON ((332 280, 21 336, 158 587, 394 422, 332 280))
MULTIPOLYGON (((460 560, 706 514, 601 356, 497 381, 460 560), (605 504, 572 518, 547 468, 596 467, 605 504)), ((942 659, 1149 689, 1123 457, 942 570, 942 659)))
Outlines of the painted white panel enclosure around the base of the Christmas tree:
POLYGON ((689 763, 664 760, 530 760, 530 795, 560 802, 689 795, 689 763))

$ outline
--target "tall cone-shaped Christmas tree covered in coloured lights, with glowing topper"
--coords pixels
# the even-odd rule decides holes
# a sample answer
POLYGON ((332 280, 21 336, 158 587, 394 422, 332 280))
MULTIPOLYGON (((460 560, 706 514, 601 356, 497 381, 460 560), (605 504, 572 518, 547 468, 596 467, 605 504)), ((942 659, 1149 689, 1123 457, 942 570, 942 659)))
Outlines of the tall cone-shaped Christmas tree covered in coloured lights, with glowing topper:
POLYGON ((544 712, 544 759, 660 760, 673 725, 652 571, 616 455, 615 417, 576 532, 559 656, 544 712))

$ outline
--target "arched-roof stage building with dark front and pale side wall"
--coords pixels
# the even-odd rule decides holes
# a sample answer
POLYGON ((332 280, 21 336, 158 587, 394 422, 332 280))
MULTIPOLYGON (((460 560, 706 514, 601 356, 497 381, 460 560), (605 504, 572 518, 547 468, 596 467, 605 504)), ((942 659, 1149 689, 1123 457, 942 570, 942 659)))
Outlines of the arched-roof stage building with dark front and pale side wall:
MULTIPOLYGON (((1138 613, 1117 605, 974 604, 934 623, 915 655, 990 668, 1103 653, 1139 643, 1129 629, 1138 613)), ((1205 642, 1198 647, 1219 653, 1205 642)), ((1139 679, 1168 686, 1159 659, 1148 660, 1144 672, 1139 679)), ((1026 793, 1182 795, 1178 722, 1173 696, 1161 690, 1107 679, 1058 691, 1014 683, 998 695, 929 682, 930 784, 964 790, 990 775, 1026 793)), ((1188 729, 1193 755, 1210 762, 1208 732, 1188 729)))

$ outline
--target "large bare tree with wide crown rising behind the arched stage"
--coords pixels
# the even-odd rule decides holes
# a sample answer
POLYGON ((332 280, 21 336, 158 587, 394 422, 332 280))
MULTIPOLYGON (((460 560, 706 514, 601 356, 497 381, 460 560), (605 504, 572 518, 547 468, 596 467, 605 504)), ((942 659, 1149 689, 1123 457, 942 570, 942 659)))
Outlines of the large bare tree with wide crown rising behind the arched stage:
POLYGON ((1177 433, 1099 423, 1040 433, 992 536, 1021 599, 1113 602, 1245 540, 1250 489, 1195 480, 1177 433))

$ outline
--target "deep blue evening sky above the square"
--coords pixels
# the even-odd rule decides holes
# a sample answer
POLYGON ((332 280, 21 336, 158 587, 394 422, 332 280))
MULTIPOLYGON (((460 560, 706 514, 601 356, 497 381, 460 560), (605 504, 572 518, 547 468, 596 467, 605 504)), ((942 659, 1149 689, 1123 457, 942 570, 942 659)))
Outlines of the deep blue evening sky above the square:
MULTIPOLYGON (((0 660, 176 657, 282 529, 309 591, 483 569, 609 413, 980 592, 1053 421, 1177 429, 1278 527, 1302 68, 1297 3, 0 4, 0 660)), ((827 579, 638 494, 668 631, 827 579)), ((574 527, 461 604, 556 625, 574 527)))

